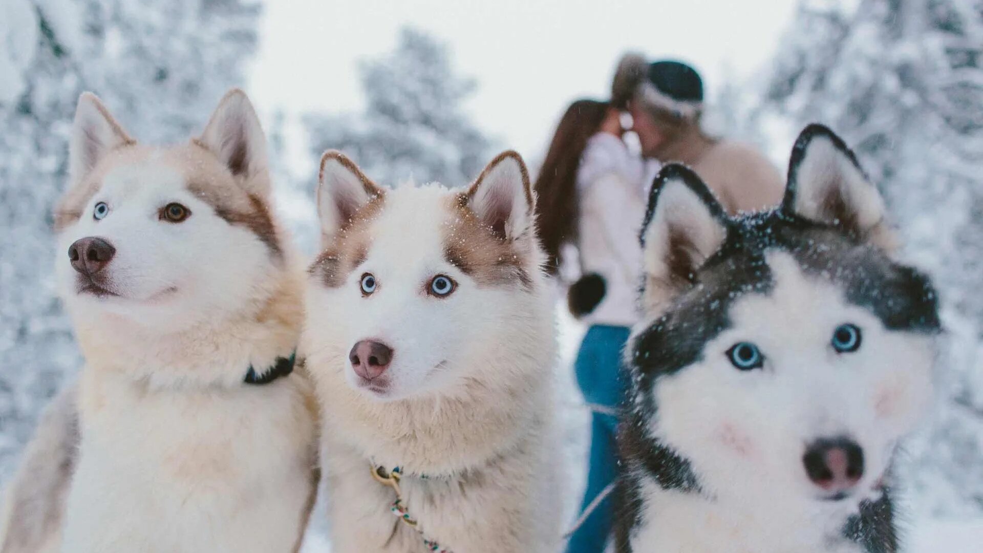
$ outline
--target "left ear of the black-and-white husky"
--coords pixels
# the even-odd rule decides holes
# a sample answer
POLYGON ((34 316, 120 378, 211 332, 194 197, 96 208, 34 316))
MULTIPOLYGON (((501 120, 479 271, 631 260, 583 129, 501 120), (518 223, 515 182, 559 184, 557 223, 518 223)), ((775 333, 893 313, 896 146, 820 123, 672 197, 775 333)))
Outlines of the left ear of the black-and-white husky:
POLYGON ((700 177, 669 163, 656 176, 642 226, 642 308, 655 314, 692 286, 727 234, 727 215, 700 177))

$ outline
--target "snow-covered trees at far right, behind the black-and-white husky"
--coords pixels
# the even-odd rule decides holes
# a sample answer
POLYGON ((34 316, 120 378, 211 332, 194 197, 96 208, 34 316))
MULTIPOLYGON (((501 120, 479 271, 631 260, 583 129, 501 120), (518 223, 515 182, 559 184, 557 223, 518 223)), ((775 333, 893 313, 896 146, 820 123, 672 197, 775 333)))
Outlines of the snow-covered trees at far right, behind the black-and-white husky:
POLYGON ((950 339, 933 430, 909 452, 916 505, 983 510, 983 1, 804 1, 764 111, 829 124, 934 276, 950 339), (854 3, 851 3, 854 4, 854 3))

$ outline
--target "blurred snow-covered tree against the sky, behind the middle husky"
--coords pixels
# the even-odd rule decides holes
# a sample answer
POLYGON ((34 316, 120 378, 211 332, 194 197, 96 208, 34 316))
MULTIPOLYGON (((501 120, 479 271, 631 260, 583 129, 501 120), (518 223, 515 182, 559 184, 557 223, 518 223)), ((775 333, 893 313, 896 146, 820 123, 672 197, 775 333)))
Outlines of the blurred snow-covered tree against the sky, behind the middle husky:
POLYGON ((315 156, 340 150, 386 184, 412 178, 456 186, 478 175, 490 144, 462 105, 475 83, 456 74, 446 45, 404 29, 392 52, 360 72, 363 113, 304 117, 315 156))

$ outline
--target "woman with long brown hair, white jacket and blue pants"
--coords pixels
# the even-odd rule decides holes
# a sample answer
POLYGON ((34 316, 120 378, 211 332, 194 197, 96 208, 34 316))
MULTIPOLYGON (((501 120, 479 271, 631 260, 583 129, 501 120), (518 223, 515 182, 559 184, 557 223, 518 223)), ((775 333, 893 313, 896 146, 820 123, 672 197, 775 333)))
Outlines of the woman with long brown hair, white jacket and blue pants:
MULTIPOLYGON (((568 300, 571 312, 589 328, 574 370, 584 398, 601 407, 593 415, 583 508, 615 475, 617 419, 610 413, 624 396, 620 356, 637 319, 638 230, 646 179, 651 182, 655 173, 654 162, 630 152, 621 138, 617 109, 591 99, 573 102, 560 119, 536 181, 538 229, 549 272, 570 265, 565 252, 578 253, 582 277, 570 287, 568 300)), ((604 500, 571 536, 567 551, 603 551, 610 526, 611 508, 604 500)))

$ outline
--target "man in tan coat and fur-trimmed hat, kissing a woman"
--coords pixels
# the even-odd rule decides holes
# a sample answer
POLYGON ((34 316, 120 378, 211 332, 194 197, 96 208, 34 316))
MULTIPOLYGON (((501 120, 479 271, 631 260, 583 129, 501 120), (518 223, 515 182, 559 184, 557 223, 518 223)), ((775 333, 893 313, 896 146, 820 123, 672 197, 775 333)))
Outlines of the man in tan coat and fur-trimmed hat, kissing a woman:
POLYGON ((771 162, 701 128, 703 81, 692 67, 626 54, 614 74, 611 105, 631 113, 643 155, 692 167, 731 214, 781 202, 784 183, 771 162))

